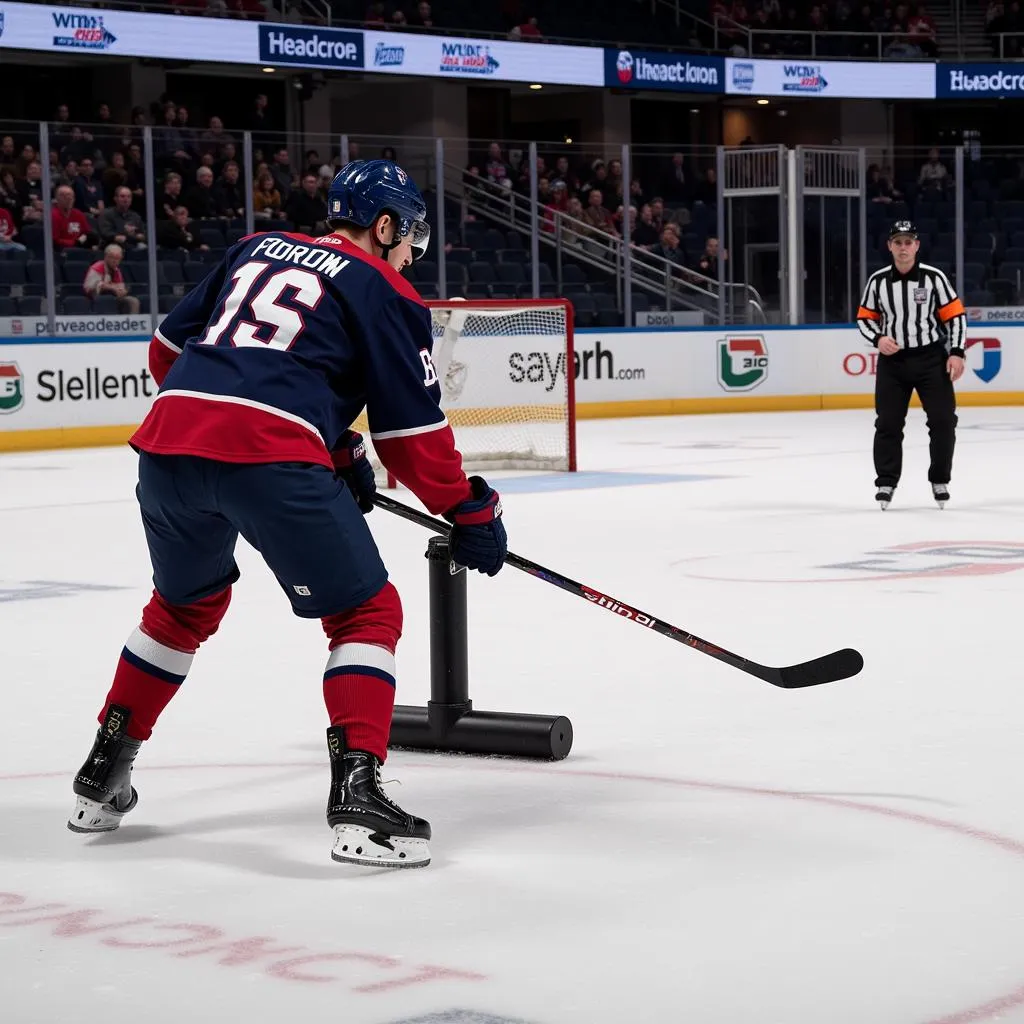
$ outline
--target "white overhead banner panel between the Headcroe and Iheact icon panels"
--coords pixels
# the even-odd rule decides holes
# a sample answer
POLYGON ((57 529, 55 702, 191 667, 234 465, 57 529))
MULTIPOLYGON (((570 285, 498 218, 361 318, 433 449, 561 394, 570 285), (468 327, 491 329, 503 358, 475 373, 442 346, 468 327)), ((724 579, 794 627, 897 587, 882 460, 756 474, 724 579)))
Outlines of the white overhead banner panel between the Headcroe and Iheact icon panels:
POLYGON ((462 81, 604 85, 596 46, 556 46, 501 39, 465 39, 366 32, 366 70, 462 81))

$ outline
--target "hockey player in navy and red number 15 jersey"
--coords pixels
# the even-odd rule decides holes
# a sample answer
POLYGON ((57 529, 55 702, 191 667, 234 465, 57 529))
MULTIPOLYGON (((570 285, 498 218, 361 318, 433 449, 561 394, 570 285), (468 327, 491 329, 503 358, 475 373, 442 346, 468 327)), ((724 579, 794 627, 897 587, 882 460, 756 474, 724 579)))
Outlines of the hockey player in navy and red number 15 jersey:
POLYGON ((376 486, 352 421, 366 407, 381 461, 453 524, 461 564, 497 573, 505 527, 495 490, 463 472, 430 314, 399 272, 429 241, 423 198, 374 160, 339 172, 328 209, 324 238, 236 244, 155 334, 160 392, 132 438, 155 590, 75 778, 73 831, 110 831, 135 806, 135 756, 227 611, 241 535, 328 636, 332 856, 429 862, 430 825, 381 788, 401 605, 360 514, 376 486))

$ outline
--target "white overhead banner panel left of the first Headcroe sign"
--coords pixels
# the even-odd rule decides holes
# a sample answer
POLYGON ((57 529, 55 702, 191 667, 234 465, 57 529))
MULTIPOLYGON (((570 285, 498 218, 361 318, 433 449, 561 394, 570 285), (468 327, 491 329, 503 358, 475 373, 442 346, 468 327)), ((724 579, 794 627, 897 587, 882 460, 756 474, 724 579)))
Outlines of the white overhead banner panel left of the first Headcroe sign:
POLYGON ((0 2, 0 47, 47 53, 256 63, 256 22, 0 2))

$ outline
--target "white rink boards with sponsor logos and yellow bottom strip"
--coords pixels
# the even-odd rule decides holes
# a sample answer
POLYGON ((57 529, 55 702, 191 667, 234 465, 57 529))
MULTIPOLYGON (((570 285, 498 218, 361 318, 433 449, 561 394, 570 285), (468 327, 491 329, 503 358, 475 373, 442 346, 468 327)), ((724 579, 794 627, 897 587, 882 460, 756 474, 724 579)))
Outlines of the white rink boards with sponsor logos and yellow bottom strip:
MULTIPOLYGON (((148 335, 0 338, 0 451, 121 443, 157 388, 148 335)), ((555 336, 474 339, 450 419, 564 401, 555 336)), ((580 418, 870 407, 878 353, 848 326, 578 331, 580 418)), ((964 404, 1024 404, 1024 327, 968 332, 964 404)))

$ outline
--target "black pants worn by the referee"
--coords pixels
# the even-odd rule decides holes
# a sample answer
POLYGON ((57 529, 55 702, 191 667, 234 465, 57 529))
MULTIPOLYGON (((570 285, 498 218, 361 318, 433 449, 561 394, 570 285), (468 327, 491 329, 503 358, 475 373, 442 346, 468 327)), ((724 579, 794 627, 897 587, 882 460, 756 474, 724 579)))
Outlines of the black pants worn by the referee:
POLYGON ((903 424, 916 391, 928 417, 928 479, 948 483, 956 442, 956 395, 940 344, 879 355, 874 377, 874 485, 895 487, 903 471, 903 424))

